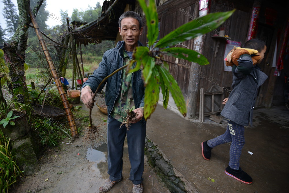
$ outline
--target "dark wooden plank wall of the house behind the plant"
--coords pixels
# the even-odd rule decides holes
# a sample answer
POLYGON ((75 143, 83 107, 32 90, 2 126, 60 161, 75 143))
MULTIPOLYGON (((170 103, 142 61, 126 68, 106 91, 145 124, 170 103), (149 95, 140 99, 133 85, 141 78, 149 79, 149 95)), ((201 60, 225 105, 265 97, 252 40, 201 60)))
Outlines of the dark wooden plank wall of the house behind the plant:
MULTIPOLYGON (((264 4, 263 4, 264 2, 267 2, 266 7, 268 6, 270 7, 270 5, 268 5, 269 1, 266 1, 266 0, 262 1, 263 8, 261 7, 261 12, 262 12, 262 9, 264 10, 264 4)), ((185 15, 184 13, 179 12, 178 11, 179 8, 184 9, 188 13, 194 14, 195 5, 198 6, 198 3, 199 1, 168 0, 164 2, 164 0, 162 1, 157 0, 156 4, 159 5, 157 7, 157 11, 158 11, 159 23, 160 23, 160 38, 164 37, 166 34, 175 30, 177 27, 183 25, 184 23, 187 23, 192 20, 189 18, 188 15, 185 15)), ((269 3, 272 3, 272 2, 269 2, 269 3)), ((210 1, 210 13, 224 12, 224 11, 236 9, 234 14, 229 19, 227 19, 220 27, 225 28, 225 35, 228 35, 229 37, 231 37, 230 39, 231 41, 241 42, 242 45, 247 39, 247 33, 248 33, 248 27, 250 23, 252 7, 253 7, 253 1, 250 1, 250 0, 243 0, 243 1, 211 0, 210 1)), ((278 5, 278 7, 280 8, 280 5, 278 5)), ((146 21, 137 1, 136 1, 136 6, 135 6, 135 11, 138 12, 142 16, 142 19, 143 19, 144 31, 143 31, 142 36, 140 36, 140 41, 144 45, 146 45, 146 42, 147 42, 146 21)), ((284 14, 287 14, 286 11, 283 11, 283 12, 284 14)), ((263 12, 261 14, 264 15, 263 12)), ((195 16, 193 16, 193 18, 194 17, 195 16)), ((286 16, 284 15, 281 15, 281 17, 286 18, 286 16)), ((285 21, 284 18, 279 19, 279 16, 278 16, 278 20, 280 21, 280 23, 283 22, 283 24, 280 24, 280 25, 284 25, 284 21, 285 21)), ((262 23, 262 16, 260 16, 260 21, 262 23)), ((224 71, 223 59, 224 59, 224 53, 225 53, 225 47, 226 47, 226 40, 212 38, 212 36, 216 34, 216 31, 218 32, 220 30, 220 27, 217 28, 215 31, 205 34, 202 54, 206 58, 208 58, 208 61, 210 62, 210 64, 201 66, 200 68, 199 72, 201 75, 199 76, 199 89, 204 88, 205 90, 207 90, 213 84, 220 85, 220 89, 223 89, 224 87, 230 90, 232 89, 231 88, 232 73, 230 71, 224 71), (209 81, 208 78, 210 78, 211 81, 209 81)), ((268 90, 268 87, 269 88, 272 87, 272 85, 269 84, 269 81, 273 80, 274 82, 276 82, 276 80, 272 78, 273 76, 272 68, 270 68, 269 65, 267 65, 268 62, 269 63, 272 62, 271 61, 273 58, 272 50, 276 42, 277 26, 274 26, 274 27, 272 28, 273 30, 271 31, 268 30, 268 26, 266 25, 261 24, 258 27, 257 38, 265 41, 266 43, 268 41, 269 43, 269 45, 267 45, 269 47, 269 50, 267 50, 267 56, 265 56, 266 58, 264 58, 264 61, 260 64, 261 69, 269 76, 269 78, 268 80, 266 80, 266 82, 262 85, 260 89, 260 93, 257 97, 258 100, 256 103, 256 107, 264 106, 266 102, 268 103, 268 101, 270 101, 270 98, 268 98, 268 96, 273 95, 273 93, 266 93, 268 90), (275 29, 273 29, 274 27, 275 29), (266 39, 264 39, 264 37, 266 37, 266 39)), ((183 45, 188 47, 189 49, 193 49, 193 44, 194 44, 193 40, 183 42, 183 45)), ((181 47, 180 45, 178 46, 181 47)), ((173 62, 172 57, 167 57, 166 60, 173 62)), ((190 62, 188 61, 183 61, 183 62, 190 65, 190 62)), ((179 87, 181 88, 181 91, 184 94, 185 100, 186 101, 190 100, 188 96, 190 69, 177 66, 174 64, 169 64, 169 65, 170 65, 170 72, 174 76, 174 78, 177 80, 179 87)), ((274 90, 274 88, 271 90, 274 90)), ((224 97, 228 97, 229 92, 230 91, 228 92, 224 91, 224 97)), ((199 101, 199 93, 197 97, 198 97, 197 101, 199 101)), ((199 111, 199 103, 197 104, 197 113, 198 111, 199 111)))

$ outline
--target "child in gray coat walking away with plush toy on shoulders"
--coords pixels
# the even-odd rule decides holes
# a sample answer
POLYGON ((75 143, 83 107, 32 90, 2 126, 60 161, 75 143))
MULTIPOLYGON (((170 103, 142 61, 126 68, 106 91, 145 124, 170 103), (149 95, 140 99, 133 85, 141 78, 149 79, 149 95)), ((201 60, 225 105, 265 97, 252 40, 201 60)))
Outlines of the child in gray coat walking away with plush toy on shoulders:
POLYGON ((228 120, 227 130, 223 135, 201 143, 203 158, 209 160, 212 148, 225 142, 232 142, 229 166, 225 169, 225 174, 246 184, 251 184, 253 180, 239 164, 241 150, 245 144, 244 126, 249 125, 249 122, 252 126, 258 89, 268 78, 256 65, 261 63, 266 49, 265 42, 251 39, 243 48, 235 48, 228 54, 225 61, 227 66, 233 66, 233 90, 229 98, 224 99, 225 106, 221 112, 228 120))

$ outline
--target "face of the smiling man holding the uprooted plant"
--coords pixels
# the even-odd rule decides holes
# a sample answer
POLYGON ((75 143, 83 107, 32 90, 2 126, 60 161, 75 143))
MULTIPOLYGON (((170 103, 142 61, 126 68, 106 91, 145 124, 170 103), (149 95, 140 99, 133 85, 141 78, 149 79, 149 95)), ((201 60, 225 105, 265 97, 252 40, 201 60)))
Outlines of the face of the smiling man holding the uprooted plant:
POLYGON ((142 28, 139 28, 138 20, 131 17, 126 17, 121 20, 121 27, 118 27, 118 31, 127 46, 136 45, 139 36, 142 34, 142 28))

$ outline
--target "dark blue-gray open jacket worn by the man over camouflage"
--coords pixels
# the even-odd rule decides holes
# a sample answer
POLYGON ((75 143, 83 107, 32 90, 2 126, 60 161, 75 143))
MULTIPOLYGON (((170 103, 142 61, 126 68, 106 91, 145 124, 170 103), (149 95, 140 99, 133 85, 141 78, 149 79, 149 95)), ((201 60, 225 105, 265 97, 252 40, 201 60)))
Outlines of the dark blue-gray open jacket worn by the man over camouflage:
MULTIPOLYGON (((143 46, 140 41, 138 45, 143 46)), ((99 63, 99 67, 93 72, 92 75, 88 77, 88 80, 83 84, 82 88, 85 86, 90 86, 92 92, 94 93, 100 84, 100 82, 116 69, 123 66, 123 51, 124 51, 125 42, 119 41, 116 44, 116 47, 106 51, 103 54, 102 61, 99 63)), ((134 67, 134 66, 133 66, 134 67)), ((118 71, 112 77, 108 78, 106 88, 105 88, 105 103, 108 106, 108 115, 110 115, 114 103, 118 98, 120 93, 123 71, 118 71)), ((144 83, 142 80, 141 69, 132 73, 131 84, 133 91, 134 104, 136 108, 144 106, 144 83)), ((101 86, 101 89, 104 87, 105 83, 101 86)), ((146 122, 144 118, 140 121, 141 125, 144 125, 146 122)))

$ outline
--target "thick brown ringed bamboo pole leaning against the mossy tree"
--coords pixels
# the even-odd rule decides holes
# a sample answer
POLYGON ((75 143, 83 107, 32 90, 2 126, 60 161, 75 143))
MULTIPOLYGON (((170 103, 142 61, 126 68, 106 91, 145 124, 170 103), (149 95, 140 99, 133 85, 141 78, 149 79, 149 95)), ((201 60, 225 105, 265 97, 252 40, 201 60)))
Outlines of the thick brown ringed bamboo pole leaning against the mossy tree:
POLYGON ((78 137, 78 132, 77 132, 77 128, 76 128, 76 124, 75 124, 75 121, 73 119, 73 115, 72 115, 72 112, 71 112, 71 109, 70 109, 70 105, 68 103, 68 100, 66 98, 66 95, 65 95, 65 92, 64 92, 64 89, 62 87, 62 84, 60 82, 60 78, 58 77, 58 74, 55 70, 55 67, 53 65, 53 62, 52 62, 52 59, 51 59, 51 56, 49 54, 49 51, 47 49, 47 46, 46 46, 46 43, 42 37, 42 34, 40 33, 40 29, 39 29, 39 26, 36 22, 36 19, 35 19, 35 16, 32 12, 32 9, 29 7, 29 16, 30 16, 30 19, 33 23, 33 26, 34 26, 34 29, 35 29, 35 32, 36 32, 36 35, 38 36, 38 39, 39 39, 39 42, 41 44, 41 47, 43 49, 43 52, 45 54, 45 58, 49 64, 49 68, 51 70, 51 74, 54 78, 54 81, 55 81, 55 84, 56 84, 56 87, 58 89, 58 92, 60 94, 60 97, 61 97, 61 100, 62 100, 62 104, 64 106, 64 110, 66 112, 66 115, 67 115, 67 119, 68 119, 68 123, 69 123, 69 126, 70 126, 70 129, 71 129, 71 136, 74 137, 78 137))

